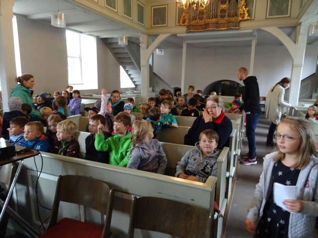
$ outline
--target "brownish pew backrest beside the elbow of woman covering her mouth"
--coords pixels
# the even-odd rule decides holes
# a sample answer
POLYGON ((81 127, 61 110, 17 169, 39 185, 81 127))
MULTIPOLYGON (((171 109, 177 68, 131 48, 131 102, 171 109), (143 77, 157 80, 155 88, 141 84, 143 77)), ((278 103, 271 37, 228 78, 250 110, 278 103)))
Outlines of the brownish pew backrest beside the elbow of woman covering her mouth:
POLYGON ((175 127, 165 127, 159 130, 157 139, 161 142, 183 144, 184 136, 188 133, 190 127, 179 126, 175 127))

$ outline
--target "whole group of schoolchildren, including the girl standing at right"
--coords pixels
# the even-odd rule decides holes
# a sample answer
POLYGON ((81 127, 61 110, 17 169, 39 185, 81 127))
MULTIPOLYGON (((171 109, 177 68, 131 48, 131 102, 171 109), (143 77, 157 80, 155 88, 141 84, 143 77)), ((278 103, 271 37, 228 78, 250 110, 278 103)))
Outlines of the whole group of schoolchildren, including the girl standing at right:
MULTIPOLYGON (((191 102, 194 98, 190 97, 191 92, 178 95, 177 102, 173 97, 171 100, 168 94, 166 90, 160 90, 158 98, 150 98, 148 103, 137 108, 133 99, 123 103, 117 90, 111 93, 109 99, 105 90, 102 91, 101 106, 85 109, 89 118, 87 131, 90 133, 85 139, 85 159, 164 174, 167 159, 155 139, 156 133, 162 126, 178 126, 171 113, 172 104, 177 105, 174 109, 181 110, 187 103, 183 110, 190 112, 197 110, 198 106, 198 101, 195 105, 191 102), (143 120, 136 120, 133 112, 141 112, 143 120)), ((239 108, 240 97, 237 96, 233 111, 239 108)), ((79 143, 74 136, 77 125, 73 121, 52 114, 47 118, 44 135, 43 124, 25 117, 21 106, 18 99, 10 99, 9 114, 16 116, 9 121, 12 144, 79 157, 79 143)), ((310 109, 308 116, 313 118, 310 109)), ((314 156, 316 147, 310 124, 303 119, 283 119, 274 137, 278 151, 264 158, 263 173, 245 221, 246 229, 255 237, 312 237, 318 214, 318 159, 314 156), (274 202, 275 182, 297 185, 297 199, 284 200, 285 208, 274 202)), ((175 177, 205 182, 209 176, 216 176, 220 154, 218 142, 219 136, 215 131, 202 131, 195 148, 186 152, 177 163, 175 177)))

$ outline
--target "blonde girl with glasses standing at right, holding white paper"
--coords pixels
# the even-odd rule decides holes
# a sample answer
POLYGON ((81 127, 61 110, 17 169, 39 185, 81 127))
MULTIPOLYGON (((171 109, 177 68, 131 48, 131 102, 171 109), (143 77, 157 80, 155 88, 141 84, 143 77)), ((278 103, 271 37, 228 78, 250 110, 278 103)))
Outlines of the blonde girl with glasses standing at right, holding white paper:
MULTIPOLYGON (((263 173, 245 227, 254 237, 314 238, 318 215, 318 159, 310 122, 284 119, 274 134, 278 151, 264 158, 263 173), (296 199, 274 203, 274 183, 296 186, 296 199)), ((276 190, 275 190, 276 191, 276 190)))

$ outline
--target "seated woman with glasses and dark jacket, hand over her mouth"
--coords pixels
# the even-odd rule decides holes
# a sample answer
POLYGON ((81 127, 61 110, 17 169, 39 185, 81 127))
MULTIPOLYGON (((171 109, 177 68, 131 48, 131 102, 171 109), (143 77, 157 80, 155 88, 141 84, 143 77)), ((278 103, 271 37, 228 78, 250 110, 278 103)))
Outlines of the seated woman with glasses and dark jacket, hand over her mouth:
POLYGON ((219 135, 218 149, 227 145, 232 133, 232 122, 225 116, 223 100, 219 96, 210 96, 207 99, 203 115, 197 117, 188 133, 184 136, 185 145, 195 145, 199 141, 199 135, 206 129, 215 130, 219 135))

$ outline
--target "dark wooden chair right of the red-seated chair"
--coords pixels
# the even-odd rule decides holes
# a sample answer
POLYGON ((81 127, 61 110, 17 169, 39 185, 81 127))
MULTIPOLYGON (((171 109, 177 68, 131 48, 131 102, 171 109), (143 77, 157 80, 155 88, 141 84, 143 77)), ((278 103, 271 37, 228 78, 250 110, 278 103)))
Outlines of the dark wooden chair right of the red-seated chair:
POLYGON ((161 232, 180 238, 211 238, 212 215, 209 211, 158 197, 133 197, 128 238, 134 230, 161 232))

